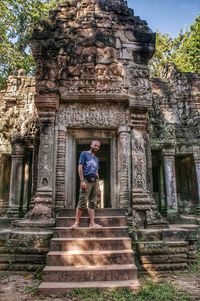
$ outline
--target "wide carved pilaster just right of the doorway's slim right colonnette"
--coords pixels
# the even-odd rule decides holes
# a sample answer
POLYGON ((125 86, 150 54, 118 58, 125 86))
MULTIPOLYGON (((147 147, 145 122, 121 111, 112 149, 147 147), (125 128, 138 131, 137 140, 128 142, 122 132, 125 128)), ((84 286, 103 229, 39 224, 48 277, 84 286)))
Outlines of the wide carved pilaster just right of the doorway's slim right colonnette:
POLYGON ((131 114, 131 125, 133 224, 144 226, 146 223, 146 210, 150 209, 144 141, 146 114, 131 114))

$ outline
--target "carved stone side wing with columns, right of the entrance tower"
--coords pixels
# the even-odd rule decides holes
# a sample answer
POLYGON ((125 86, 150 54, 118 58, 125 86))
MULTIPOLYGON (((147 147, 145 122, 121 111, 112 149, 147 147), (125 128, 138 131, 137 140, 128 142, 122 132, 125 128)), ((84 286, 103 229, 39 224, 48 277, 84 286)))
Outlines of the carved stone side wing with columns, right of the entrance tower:
MULTIPOLYGON (((167 207, 181 213, 199 212, 199 83, 199 74, 181 73, 173 64, 165 67, 162 78, 152 79, 148 129, 151 149, 160 154, 157 163, 154 160, 158 198, 162 202, 164 196, 167 207)), ((163 206, 161 210, 167 211, 163 206)))

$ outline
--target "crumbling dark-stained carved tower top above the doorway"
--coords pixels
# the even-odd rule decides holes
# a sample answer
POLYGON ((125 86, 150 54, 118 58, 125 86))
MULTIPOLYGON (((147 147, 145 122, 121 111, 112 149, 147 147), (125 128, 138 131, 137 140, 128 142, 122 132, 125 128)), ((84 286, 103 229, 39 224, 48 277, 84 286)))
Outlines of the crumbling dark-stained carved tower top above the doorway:
POLYGON ((72 94, 133 94, 124 75, 126 60, 135 60, 135 70, 141 71, 136 86, 147 94, 149 84, 142 73, 148 68, 139 64, 153 55, 155 35, 125 1, 65 2, 50 18, 51 24, 41 22, 31 41, 38 92, 59 92, 66 100, 72 94))

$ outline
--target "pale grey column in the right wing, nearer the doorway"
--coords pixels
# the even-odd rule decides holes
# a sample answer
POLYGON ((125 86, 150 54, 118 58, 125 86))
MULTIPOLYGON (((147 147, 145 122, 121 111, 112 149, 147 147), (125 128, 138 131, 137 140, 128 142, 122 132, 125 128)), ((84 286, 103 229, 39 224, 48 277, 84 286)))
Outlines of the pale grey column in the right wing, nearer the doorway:
POLYGON ((164 162, 167 216, 173 217, 178 213, 174 148, 163 149, 162 155, 164 162))

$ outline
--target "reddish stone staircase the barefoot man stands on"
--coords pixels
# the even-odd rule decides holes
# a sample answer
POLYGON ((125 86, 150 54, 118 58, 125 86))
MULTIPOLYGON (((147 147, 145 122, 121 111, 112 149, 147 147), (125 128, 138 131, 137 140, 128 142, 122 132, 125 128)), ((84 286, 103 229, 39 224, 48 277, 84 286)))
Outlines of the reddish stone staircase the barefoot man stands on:
POLYGON ((74 209, 60 210, 39 292, 57 294, 74 288, 138 289, 125 210, 97 209, 95 221, 103 228, 88 228, 87 211, 83 212, 77 230, 70 229, 74 221, 74 209))

